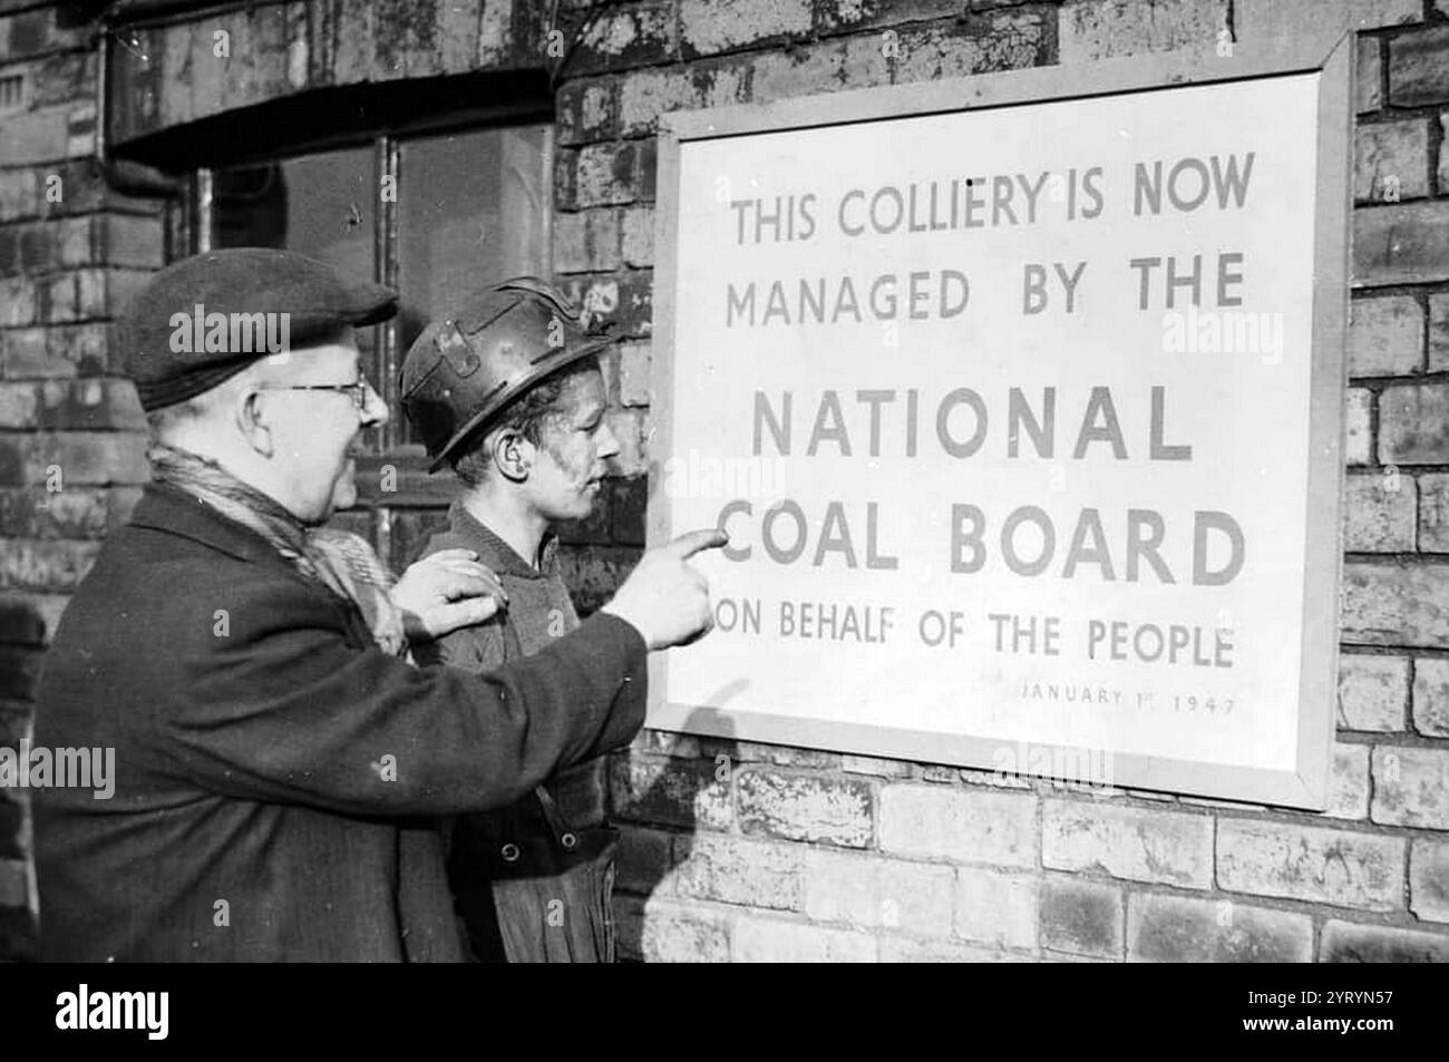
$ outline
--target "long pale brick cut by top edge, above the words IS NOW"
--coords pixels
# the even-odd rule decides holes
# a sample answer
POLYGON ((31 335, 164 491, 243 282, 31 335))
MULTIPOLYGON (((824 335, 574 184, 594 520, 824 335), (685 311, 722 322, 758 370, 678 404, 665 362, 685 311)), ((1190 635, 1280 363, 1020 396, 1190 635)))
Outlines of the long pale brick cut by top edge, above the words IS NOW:
POLYGON ((1137 0, 1103 4, 1068 0, 1061 7, 1058 48, 1062 65, 1117 55, 1216 48, 1229 25, 1227 0, 1137 0))

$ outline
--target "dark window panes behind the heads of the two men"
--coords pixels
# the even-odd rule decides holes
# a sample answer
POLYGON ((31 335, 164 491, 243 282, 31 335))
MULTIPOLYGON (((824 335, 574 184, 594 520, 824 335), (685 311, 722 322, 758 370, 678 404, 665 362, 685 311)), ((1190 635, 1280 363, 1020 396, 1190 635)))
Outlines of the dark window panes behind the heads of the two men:
POLYGON ((393 410, 378 453, 416 449, 397 369, 423 326, 485 284, 549 274, 552 138, 542 122, 380 136, 213 174, 213 246, 290 248, 401 293, 397 319, 359 336, 393 410))

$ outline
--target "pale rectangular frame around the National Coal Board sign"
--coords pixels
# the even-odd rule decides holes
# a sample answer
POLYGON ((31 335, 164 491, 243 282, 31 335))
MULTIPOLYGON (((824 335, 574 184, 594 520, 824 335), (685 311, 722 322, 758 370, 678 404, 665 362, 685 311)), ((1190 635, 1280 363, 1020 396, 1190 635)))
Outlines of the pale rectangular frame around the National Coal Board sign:
MULTIPOLYGON (((1323 810, 1327 800, 1337 690, 1339 584, 1342 578, 1343 435, 1348 368, 1345 340, 1349 301, 1349 217, 1352 214, 1353 127, 1352 32, 1321 32, 1293 42, 1233 43, 1230 58, 1213 49, 1107 59, 1082 67, 1035 67, 966 78, 858 88, 774 103, 672 112, 661 117, 653 265, 653 356, 651 368, 651 448, 674 452, 677 281, 675 238, 681 152, 693 141, 787 132, 926 114, 1149 93, 1256 78, 1320 74, 1317 167, 1313 223, 1311 365, 1308 382, 1308 468, 1304 543, 1300 701, 1293 769, 1223 765, 1108 750, 1111 785, 1207 795, 1237 801, 1323 810)), ((661 490, 661 459, 649 467, 648 542, 668 542, 691 530, 671 527, 661 490)), ((827 749, 993 769, 1000 737, 942 736, 920 730, 758 711, 733 711, 669 700, 667 662, 649 659, 649 714, 645 726, 701 736, 827 749)), ((1013 772, 1042 774, 1030 764, 1081 762, 1081 749, 1032 745, 1013 772), (1075 759, 1074 759, 1075 756, 1075 759)))

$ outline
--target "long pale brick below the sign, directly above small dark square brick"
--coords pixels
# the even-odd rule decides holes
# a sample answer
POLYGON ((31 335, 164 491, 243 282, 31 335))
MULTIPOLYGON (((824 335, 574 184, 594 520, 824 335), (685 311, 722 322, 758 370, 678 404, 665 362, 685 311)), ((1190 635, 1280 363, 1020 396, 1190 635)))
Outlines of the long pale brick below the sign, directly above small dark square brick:
POLYGON ((1048 800, 1042 804, 1042 865, 1208 888, 1213 884, 1213 819, 1048 800))

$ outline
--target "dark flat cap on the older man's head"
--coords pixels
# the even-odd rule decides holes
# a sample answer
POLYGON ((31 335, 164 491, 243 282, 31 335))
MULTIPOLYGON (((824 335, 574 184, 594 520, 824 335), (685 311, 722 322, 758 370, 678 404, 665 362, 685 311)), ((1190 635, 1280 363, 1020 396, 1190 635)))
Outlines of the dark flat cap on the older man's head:
POLYGON ((397 313, 397 293, 293 251, 209 251, 161 269, 117 325, 120 359, 151 410, 194 398, 252 362, 397 313))

